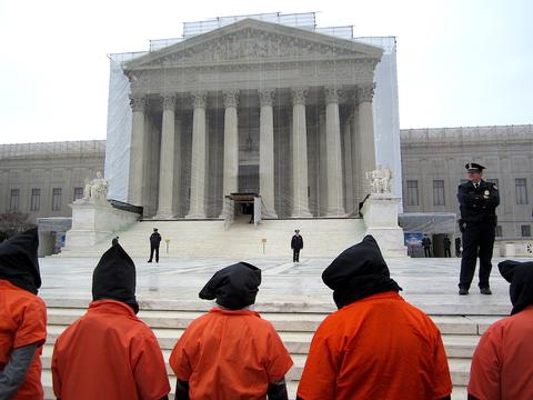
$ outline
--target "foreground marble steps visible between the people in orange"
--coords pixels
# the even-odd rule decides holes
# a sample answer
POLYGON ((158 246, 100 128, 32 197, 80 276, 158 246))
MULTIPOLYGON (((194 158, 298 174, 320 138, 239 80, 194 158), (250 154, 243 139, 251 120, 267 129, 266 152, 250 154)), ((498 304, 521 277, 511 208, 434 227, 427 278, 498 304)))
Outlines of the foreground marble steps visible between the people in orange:
MULTIPOLYGON (((48 304, 48 340, 42 353, 42 382, 46 389, 46 399, 53 399, 50 371, 53 343, 70 323, 86 312, 87 300, 52 298, 46 298, 44 300, 48 304)), ((161 301, 144 301, 141 303, 141 307, 139 317, 152 328, 159 340, 164 360, 168 362, 177 339, 194 318, 209 308, 209 304, 200 301, 190 301, 185 307, 177 307, 175 303, 164 304, 161 301)), ((263 318, 273 323, 293 358, 294 367, 286 376, 291 399, 295 398, 298 381, 305 363, 312 336, 328 314, 320 310, 328 308, 329 304, 306 307, 302 303, 300 310, 283 312, 283 309, 280 309, 276 304, 258 304, 258 311, 261 312, 263 318), (265 311, 262 312, 262 310, 265 311)), ((470 362, 474 348, 480 336, 499 318, 497 316, 432 316, 432 319, 442 332, 449 357, 454 384, 452 399, 466 398, 465 386, 469 381, 470 362)), ((171 392, 173 393, 175 380, 168 364, 167 370, 171 381, 171 392)))

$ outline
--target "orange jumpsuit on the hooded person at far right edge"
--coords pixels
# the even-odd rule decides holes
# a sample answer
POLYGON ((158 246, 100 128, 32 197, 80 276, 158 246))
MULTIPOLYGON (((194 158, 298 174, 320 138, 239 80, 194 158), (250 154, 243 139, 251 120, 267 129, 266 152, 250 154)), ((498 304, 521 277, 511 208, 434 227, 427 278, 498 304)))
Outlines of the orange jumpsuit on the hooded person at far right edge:
POLYGON ((533 399, 533 306, 494 322, 472 358, 469 393, 480 400, 533 399))

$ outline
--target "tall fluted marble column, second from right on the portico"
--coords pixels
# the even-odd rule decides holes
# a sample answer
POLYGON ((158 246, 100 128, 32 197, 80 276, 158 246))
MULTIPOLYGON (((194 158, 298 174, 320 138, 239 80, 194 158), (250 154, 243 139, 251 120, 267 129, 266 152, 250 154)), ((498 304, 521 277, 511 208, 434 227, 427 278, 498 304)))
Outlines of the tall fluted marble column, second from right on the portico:
POLYGON ((325 136, 328 158, 328 212, 326 217, 344 216, 342 188, 341 123, 339 119, 339 90, 324 88, 325 136))

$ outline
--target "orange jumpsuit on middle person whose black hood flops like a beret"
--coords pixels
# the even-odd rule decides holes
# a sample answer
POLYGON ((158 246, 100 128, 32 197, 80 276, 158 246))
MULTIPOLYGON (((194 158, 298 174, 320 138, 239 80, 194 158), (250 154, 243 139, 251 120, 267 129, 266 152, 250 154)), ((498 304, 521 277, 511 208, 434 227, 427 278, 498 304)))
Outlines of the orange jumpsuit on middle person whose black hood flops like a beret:
POLYGON ((292 360, 269 321, 250 310, 213 308, 191 322, 170 356, 191 400, 265 399, 292 360))

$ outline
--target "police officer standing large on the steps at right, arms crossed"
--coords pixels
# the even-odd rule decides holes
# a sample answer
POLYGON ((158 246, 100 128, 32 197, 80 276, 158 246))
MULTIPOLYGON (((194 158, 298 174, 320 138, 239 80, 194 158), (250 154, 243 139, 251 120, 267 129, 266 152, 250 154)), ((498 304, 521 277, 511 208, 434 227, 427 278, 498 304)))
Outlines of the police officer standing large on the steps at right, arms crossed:
POLYGON ((469 162, 465 168, 469 182, 460 184, 457 189, 461 209, 459 228, 463 233, 459 294, 469 294, 477 256, 480 257, 480 291, 482 294, 492 294, 489 277, 492 269, 491 258, 497 222, 495 211, 500 204, 500 194, 494 183, 481 179, 485 167, 469 162))

